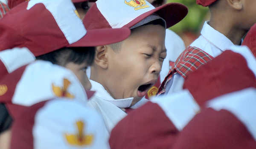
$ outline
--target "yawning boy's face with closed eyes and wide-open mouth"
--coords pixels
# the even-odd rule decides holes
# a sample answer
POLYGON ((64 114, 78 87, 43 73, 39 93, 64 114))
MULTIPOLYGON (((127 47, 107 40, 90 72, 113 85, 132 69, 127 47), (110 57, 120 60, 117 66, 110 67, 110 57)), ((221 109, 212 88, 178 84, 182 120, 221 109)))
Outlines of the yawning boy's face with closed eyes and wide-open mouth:
POLYGON ((118 52, 110 52, 108 91, 115 99, 134 97, 134 105, 159 77, 166 57, 165 28, 160 25, 137 27, 122 42, 118 52))

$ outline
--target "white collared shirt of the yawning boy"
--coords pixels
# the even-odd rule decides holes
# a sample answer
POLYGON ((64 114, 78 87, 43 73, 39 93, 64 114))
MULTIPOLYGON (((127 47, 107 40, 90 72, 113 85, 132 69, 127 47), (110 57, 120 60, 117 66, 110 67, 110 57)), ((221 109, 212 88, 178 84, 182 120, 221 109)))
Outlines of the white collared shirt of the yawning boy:
MULTIPOLYGON (((96 111, 102 115, 108 132, 110 133, 113 127, 116 126, 116 123, 127 115, 121 108, 129 108, 133 97, 114 99, 100 83, 93 80, 90 80, 90 83, 92 85, 90 90, 96 91, 96 93, 88 101, 88 105, 96 109, 96 111)), ((137 109, 147 101, 146 99, 142 99, 130 108, 137 109)))

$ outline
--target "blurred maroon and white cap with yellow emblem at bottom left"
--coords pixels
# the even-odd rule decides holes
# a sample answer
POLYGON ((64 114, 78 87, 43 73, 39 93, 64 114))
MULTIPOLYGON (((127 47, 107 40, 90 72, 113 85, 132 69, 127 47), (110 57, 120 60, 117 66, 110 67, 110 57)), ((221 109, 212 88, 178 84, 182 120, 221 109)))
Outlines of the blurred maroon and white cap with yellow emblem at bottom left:
POLYGON ((102 117, 78 100, 29 106, 12 124, 10 149, 109 149, 102 117))

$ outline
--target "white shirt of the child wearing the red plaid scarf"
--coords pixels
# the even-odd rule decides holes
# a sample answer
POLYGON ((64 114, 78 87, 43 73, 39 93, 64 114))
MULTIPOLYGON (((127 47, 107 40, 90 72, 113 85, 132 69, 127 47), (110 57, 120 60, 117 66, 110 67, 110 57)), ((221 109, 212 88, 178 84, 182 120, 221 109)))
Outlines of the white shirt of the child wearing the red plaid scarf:
MULTIPOLYGON (((204 23, 201 30, 201 36, 198 37, 190 46, 195 46, 204 52, 207 52, 212 57, 217 57, 225 49, 233 46, 231 40, 229 40, 224 34, 221 34, 217 30, 213 29, 208 24, 209 21, 204 23)), ((166 84, 166 95, 175 92, 180 92, 183 89, 184 78, 176 73, 172 79, 166 84)))

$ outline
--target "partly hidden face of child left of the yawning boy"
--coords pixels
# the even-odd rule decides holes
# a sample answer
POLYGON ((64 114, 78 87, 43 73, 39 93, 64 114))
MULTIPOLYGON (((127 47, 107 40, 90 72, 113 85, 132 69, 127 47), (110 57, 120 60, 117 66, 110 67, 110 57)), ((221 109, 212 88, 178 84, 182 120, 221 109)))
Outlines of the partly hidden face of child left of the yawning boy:
POLYGON ((70 69, 74 74, 76 74, 76 77, 79 79, 84 89, 90 90, 91 83, 86 75, 87 67, 88 65, 85 62, 81 64, 69 62, 65 66, 65 68, 70 69))

